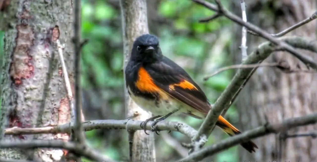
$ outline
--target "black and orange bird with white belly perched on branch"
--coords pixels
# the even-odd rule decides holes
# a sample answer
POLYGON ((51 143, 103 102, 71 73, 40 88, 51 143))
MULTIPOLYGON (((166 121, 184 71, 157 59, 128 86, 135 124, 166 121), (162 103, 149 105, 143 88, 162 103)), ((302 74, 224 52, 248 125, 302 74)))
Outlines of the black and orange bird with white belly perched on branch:
MULTIPOLYGON (((205 118, 211 108, 205 93, 178 64, 163 56, 159 39, 150 34, 136 38, 125 69, 126 87, 133 101, 142 109, 150 111, 153 126, 165 118, 185 113, 194 118, 205 118)), ((225 118, 219 116, 216 123, 230 136, 241 133, 225 118)), ((252 141, 241 145, 252 153, 258 148, 252 141)))

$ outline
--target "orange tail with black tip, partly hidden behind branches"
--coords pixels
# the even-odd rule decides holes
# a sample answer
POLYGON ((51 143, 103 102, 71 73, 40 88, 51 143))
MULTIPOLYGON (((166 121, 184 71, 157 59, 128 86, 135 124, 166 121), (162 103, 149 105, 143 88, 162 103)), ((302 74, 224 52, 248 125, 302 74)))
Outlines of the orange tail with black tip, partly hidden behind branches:
MULTIPOLYGON (((236 134, 240 134, 241 133, 238 129, 236 129, 236 127, 231 125, 222 116, 219 116, 216 125, 219 126, 224 132, 229 134, 229 136, 234 136, 236 134)), ((245 148, 246 150, 248 150, 250 153, 252 153, 252 151, 256 152, 255 148, 258 148, 257 145, 255 143, 253 143, 252 141, 243 142, 240 145, 242 145, 242 147, 245 148)))

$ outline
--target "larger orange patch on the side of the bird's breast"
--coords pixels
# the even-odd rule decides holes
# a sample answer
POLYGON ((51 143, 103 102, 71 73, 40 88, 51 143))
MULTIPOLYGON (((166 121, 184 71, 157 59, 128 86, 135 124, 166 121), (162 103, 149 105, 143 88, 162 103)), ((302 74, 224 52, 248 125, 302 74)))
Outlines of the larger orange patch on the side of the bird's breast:
POLYGON ((140 91, 148 93, 159 93, 162 98, 168 98, 168 95, 153 82, 152 77, 143 67, 140 67, 138 75, 139 78, 135 82, 135 86, 140 91))

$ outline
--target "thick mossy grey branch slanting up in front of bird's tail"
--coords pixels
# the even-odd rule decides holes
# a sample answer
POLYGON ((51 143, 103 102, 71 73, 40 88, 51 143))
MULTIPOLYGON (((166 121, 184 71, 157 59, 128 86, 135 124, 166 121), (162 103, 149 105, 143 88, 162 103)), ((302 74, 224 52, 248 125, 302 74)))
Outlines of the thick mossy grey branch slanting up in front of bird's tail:
MULTIPOLYGON (((316 43, 309 41, 301 37, 281 37, 279 41, 285 41, 286 43, 294 46, 295 48, 306 49, 317 53, 316 43)), ((265 42, 258 46, 258 48, 253 51, 247 60, 243 64, 256 64, 260 61, 267 58, 274 50, 281 50, 280 48, 274 48, 270 42, 265 42)), ((256 69, 257 67, 255 67, 256 69)), ((219 115, 224 109, 228 109, 232 101, 232 98, 238 95, 238 92, 241 91, 241 86, 245 83, 245 79, 253 69, 239 69, 230 84, 219 96, 216 103, 213 105, 212 110, 207 114, 206 119, 202 123, 201 127, 198 130, 197 136, 193 141, 199 140, 199 137, 202 134, 206 134, 207 137, 210 135, 211 131, 215 127, 216 121, 219 115)))

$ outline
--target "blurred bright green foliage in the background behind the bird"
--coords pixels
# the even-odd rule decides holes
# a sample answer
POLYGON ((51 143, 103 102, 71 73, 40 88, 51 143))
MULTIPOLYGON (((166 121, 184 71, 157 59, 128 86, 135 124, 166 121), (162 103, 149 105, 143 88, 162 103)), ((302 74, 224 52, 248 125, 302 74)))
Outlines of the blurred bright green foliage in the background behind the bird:
MULTIPOLYGON (((226 6, 230 1, 224 1, 223 3, 226 6)), ((169 25, 158 24, 156 26, 162 52, 165 56, 181 63, 181 66, 193 77, 197 84, 201 85, 210 101, 215 100, 229 84, 231 73, 225 71, 203 82, 202 78, 211 72, 207 72, 204 66, 220 67, 227 64, 228 51, 226 49, 230 42, 223 44, 224 49, 220 51, 221 55, 214 56, 210 51, 214 48, 217 37, 213 40, 206 39, 206 37, 212 33, 218 35, 222 29, 230 25, 230 21, 221 17, 210 23, 199 23, 199 19, 210 17, 214 12, 191 1, 184 0, 161 0, 157 13, 163 19, 172 22, 169 25), (206 60, 210 57, 213 59, 207 62, 206 60), (179 62, 179 60, 184 60, 184 62, 179 62)), ((151 18, 152 16, 148 17, 151 18)), ((107 118, 122 118, 124 103, 118 99, 122 97, 110 93, 110 90, 111 92, 123 91, 124 84, 120 9, 117 5, 107 3, 107 1, 82 0, 81 18, 82 37, 89 39, 88 44, 84 46, 82 51, 82 86, 85 89, 96 89, 101 93, 106 93, 107 98, 100 98, 109 101, 110 106, 106 107, 109 113, 107 118)), ((2 37, 3 33, 0 32, 0 57, 3 54, 2 37)), ((236 110, 230 108, 226 117, 236 121, 236 110)), ((196 129, 202 122, 200 119, 184 116, 171 117, 168 120, 184 122, 196 129)), ((127 154, 126 142, 115 141, 115 138, 110 138, 110 136, 100 137, 97 134, 98 131, 96 130, 86 132, 89 145, 100 149, 100 152, 113 159, 122 159, 122 152, 125 155, 127 154), (112 139, 113 141, 111 141, 112 139), (107 144, 104 145, 103 143, 107 144)), ((178 132, 171 132, 170 135, 178 141, 189 141, 186 136, 178 132)), ((223 133, 223 137, 220 138, 227 137, 223 133)), ((161 136, 156 136, 156 139, 164 141, 161 136)), ((211 135, 206 145, 212 145, 215 142, 217 142, 216 138, 211 135)), ((162 147, 162 149, 157 150, 158 158, 164 155, 165 158, 177 159, 175 150, 165 142, 159 142, 157 145, 162 147)), ((236 152, 236 147, 231 148, 217 154, 216 159, 217 161, 233 161, 238 156, 236 152)), ((83 160, 88 161, 87 159, 83 160)))

